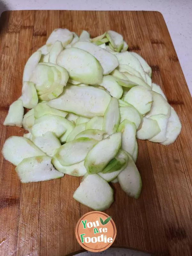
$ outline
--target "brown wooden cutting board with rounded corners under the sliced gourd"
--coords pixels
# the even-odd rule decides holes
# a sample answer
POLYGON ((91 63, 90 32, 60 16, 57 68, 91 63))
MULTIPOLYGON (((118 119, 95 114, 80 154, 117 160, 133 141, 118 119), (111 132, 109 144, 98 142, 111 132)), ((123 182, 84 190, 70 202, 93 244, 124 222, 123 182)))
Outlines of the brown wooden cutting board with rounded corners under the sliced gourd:
MULTIPOLYGON (((20 97, 22 72, 32 52, 55 28, 98 36, 108 29, 124 36, 129 50, 141 54, 179 114, 182 131, 170 146, 139 141, 137 166, 143 188, 138 200, 118 184, 106 211, 117 227, 115 247, 155 255, 190 255, 192 251, 192 100, 177 54, 159 12, 11 11, 0 18, 0 147, 24 130, 3 126, 9 105, 20 97)), ((186 53, 187 54, 187 53, 186 53)), ((81 178, 21 184, 14 166, 0 162, 0 255, 68 255, 82 250, 75 226, 90 208, 73 198, 81 178)))

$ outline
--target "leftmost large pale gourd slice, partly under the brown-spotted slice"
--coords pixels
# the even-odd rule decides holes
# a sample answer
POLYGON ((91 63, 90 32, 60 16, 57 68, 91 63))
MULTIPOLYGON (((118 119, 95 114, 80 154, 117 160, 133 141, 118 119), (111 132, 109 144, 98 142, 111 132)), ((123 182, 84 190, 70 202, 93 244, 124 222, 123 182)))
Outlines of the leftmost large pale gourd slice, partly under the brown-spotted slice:
POLYGON ((2 154, 4 158, 14 165, 18 165, 24 158, 33 156, 45 156, 31 141, 24 137, 11 136, 5 140, 2 154))

